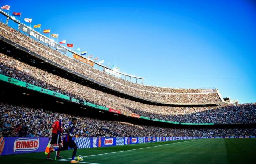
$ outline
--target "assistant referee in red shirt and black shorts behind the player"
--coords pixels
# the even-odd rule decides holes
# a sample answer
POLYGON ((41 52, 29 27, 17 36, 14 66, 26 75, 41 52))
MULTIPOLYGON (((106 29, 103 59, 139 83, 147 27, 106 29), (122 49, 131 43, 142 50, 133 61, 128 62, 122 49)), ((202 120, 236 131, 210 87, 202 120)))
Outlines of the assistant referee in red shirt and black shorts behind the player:
MULTIPOLYGON (((62 117, 59 116, 59 119, 62 120, 62 117)), ((59 128, 59 120, 56 120, 53 125, 52 128, 50 130, 50 135, 49 138, 52 137, 52 140, 50 142, 50 148, 53 148, 54 144, 57 144, 57 139, 58 139, 58 128, 59 128)), ((62 142, 61 142, 61 137, 59 136, 59 148, 62 147, 62 142)), ((62 158, 62 156, 60 156, 60 151, 57 152, 57 158, 62 158)), ((52 158, 50 157, 50 153, 48 153, 47 155, 47 160, 52 160, 52 158)))

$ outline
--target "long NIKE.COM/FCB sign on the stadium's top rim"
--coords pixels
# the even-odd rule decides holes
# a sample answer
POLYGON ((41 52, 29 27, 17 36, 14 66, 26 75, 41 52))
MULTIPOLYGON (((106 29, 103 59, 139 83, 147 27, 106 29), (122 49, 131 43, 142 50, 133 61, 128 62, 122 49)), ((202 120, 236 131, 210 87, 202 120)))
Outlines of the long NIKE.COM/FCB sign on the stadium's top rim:
POLYGON ((23 31, 27 34, 29 34, 30 36, 33 36, 34 38, 38 39, 40 42, 44 42, 45 44, 48 44, 49 46, 56 48, 57 50, 67 53, 67 50, 61 46, 58 46, 58 44, 52 42, 51 40, 47 39, 44 35, 35 33, 34 31, 30 30, 29 28, 23 26, 22 24, 20 24, 19 27, 20 31, 23 31))

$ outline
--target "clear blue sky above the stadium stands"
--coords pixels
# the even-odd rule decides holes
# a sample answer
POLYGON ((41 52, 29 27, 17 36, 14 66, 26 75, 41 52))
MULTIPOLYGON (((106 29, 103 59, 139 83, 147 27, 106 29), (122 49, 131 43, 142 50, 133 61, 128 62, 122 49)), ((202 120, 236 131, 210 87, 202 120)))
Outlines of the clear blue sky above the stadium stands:
POLYGON ((5 0, 0 5, 11 5, 10 13, 33 18, 32 25, 41 23, 105 65, 144 77, 146 85, 216 87, 223 97, 256 102, 253 1, 5 0))

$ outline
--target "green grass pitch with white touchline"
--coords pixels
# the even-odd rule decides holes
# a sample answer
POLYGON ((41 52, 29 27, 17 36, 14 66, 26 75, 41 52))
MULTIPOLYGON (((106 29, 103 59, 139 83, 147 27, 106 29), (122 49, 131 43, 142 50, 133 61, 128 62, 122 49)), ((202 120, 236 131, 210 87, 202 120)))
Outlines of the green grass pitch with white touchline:
MULTIPOLYGON (((84 163, 255 163, 256 138, 200 139, 78 149, 84 163), (116 153, 114 153, 116 152, 116 153), (108 153, 108 154, 105 154, 108 153), (101 155, 99 155, 101 154, 101 155), (93 156, 94 155, 94 156, 93 156)), ((63 151, 67 161, 47 161, 44 152, 0 156, 1 164, 67 164, 73 150, 63 151)), ((53 154, 51 155, 54 156, 53 154)))

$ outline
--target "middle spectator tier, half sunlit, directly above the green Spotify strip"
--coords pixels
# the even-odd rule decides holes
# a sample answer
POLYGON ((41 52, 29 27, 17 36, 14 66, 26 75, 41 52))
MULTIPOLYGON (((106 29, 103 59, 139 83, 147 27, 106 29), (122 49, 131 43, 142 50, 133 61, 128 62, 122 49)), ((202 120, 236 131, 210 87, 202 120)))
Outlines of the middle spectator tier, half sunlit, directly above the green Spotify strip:
POLYGON ((76 99, 153 119, 217 124, 256 122, 255 104, 231 104, 215 107, 170 107, 143 104, 69 81, 1 53, 0 74, 76 99))

